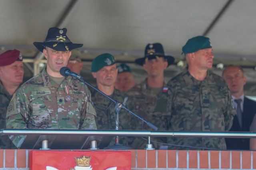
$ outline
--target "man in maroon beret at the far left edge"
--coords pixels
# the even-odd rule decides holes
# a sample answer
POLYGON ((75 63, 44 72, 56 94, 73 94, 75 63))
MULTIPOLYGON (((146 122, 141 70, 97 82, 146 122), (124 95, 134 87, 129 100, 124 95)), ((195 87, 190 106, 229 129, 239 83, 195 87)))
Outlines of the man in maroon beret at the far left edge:
MULTIPOLYGON (((6 111, 12 95, 23 81, 22 55, 18 50, 8 50, 0 55, 0 129, 6 128, 6 111)), ((14 149, 7 135, 0 136, 0 149, 14 149)))

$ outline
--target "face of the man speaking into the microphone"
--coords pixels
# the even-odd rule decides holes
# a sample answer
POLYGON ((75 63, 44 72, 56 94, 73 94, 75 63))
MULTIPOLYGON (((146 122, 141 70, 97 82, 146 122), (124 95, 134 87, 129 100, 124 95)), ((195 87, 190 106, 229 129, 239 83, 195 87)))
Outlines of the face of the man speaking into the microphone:
POLYGON ((47 73, 51 76, 60 75, 60 68, 68 64, 71 55, 71 51, 56 51, 49 47, 46 47, 43 53, 47 59, 47 73))

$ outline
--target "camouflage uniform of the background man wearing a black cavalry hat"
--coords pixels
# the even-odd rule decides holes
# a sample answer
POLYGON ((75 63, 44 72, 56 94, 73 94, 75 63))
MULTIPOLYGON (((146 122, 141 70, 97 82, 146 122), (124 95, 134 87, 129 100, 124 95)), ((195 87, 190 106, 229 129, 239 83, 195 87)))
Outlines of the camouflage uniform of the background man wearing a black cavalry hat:
MULTIPOLYGON (((164 87, 166 83, 164 82, 164 87)), ((147 83, 147 79, 145 79, 140 84, 135 85, 131 88, 127 94, 132 96, 135 100, 135 104, 137 105, 137 109, 135 112, 143 117, 146 121, 152 123, 156 127, 158 127, 158 131, 167 131, 169 129, 169 113, 153 113, 154 107, 156 104, 156 100, 158 96, 161 94, 163 90, 162 88, 150 88, 147 83)), ((139 122, 139 128, 141 129, 142 121, 139 122)), ((154 131, 151 127, 144 123, 142 130, 154 131)), ((167 143, 166 137, 158 137, 150 138, 151 141, 156 141, 160 143, 167 143)), ((144 149, 148 141, 141 139, 140 137, 136 140, 136 145, 138 149, 144 149)), ((151 143, 155 149, 159 149, 162 144, 151 143)))

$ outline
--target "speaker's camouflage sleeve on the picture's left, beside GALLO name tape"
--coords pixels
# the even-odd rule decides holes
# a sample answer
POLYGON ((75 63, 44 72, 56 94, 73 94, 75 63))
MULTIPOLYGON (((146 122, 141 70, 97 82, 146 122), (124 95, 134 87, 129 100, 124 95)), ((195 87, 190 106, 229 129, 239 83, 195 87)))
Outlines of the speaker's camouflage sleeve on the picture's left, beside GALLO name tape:
MULTIPOLYGON (((29 101, 22 90, 18 90, 14 95, 6 113, 6 128, 7 129, 26 129, 28 115, 30 113, 29 101)), ((25 140, 26 136, 10 135, 12 143, 19 149, 25 140)))

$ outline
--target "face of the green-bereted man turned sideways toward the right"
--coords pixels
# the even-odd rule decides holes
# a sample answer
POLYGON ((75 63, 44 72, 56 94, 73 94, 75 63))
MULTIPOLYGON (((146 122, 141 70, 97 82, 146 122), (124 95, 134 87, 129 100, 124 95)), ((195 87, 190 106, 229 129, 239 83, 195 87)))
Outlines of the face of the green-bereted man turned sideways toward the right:
POLYGON ((199 51, 196 51, 194 53, 194 64, 200 69, 209 69, 212 68, 213 63, 213 54, 212 54, 212 48, 202 49, 199 51))

